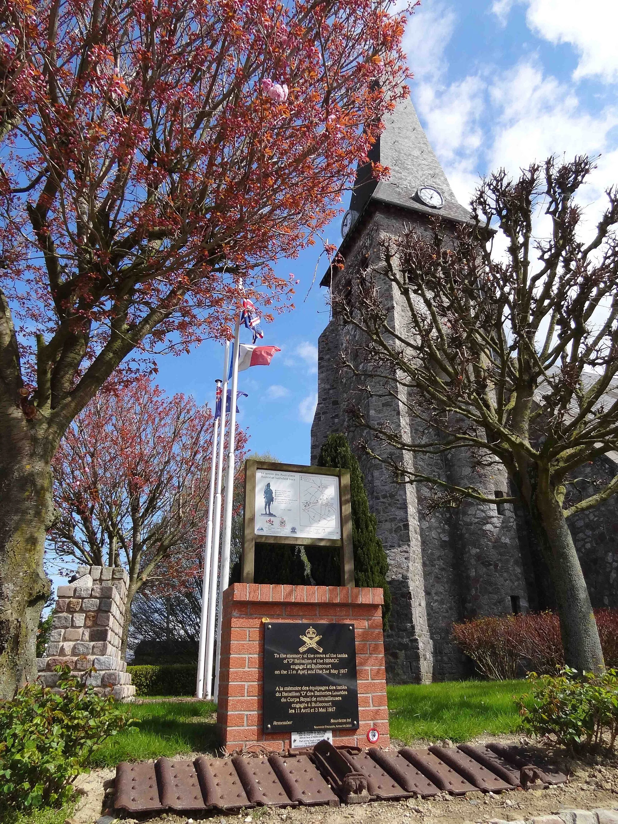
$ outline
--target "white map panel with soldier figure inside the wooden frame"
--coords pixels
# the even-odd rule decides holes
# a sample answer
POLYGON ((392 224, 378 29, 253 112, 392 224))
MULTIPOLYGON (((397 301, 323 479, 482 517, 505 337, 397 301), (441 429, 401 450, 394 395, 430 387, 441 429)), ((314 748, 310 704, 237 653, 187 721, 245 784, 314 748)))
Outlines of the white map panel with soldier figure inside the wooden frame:
POLYGON ((255 535, 340 540, 337 475, 257 469, 255 535))

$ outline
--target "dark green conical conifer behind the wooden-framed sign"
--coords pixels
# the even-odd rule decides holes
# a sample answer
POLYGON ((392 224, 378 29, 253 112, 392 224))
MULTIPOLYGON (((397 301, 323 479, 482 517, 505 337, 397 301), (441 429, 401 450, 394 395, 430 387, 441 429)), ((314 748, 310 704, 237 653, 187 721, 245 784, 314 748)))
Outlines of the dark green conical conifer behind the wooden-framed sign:
MULTIPOLYGON (((326 438, 317 459, 317 466, 349 470, 354 583, 357 587, 381 587, 384 590, 382 623, 386 630, 391 614, 391 591, 386 583, 388 559, 382 541, 377 536, 377 519, 369 510, 363 473, 344 434, 332 433, 326 438)), ((311 578, 315 583, 319 586, 339 586, 339 550, 329 550, 321 546, 307 546, 306 550, 311 566, 311 578)))

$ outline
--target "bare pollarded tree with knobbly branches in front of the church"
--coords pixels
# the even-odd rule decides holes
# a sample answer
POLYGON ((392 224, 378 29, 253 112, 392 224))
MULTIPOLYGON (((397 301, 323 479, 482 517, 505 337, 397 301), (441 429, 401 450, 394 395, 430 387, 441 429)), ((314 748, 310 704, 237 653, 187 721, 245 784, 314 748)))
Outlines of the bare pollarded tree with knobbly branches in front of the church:
MULTIPOLYGON (((618 475, 588 497, 578 469, 618 448, 618 190, 589 242, 575 195, 588 157, 532 164, 482 181, 471 222, 384 236, 381 260, 333 290, 333 311, 353 327, 342 353, 358 396, 349 405, 361 446, 396 480, 433 488, 435 505, 495 503, 474 484, 414 469, 414 455, 464 451, 506 468, 555 587, 565 660, 603 667, 588 588, 569 518, 618 490, 618 475), (550 232, 535 237, 537 213, 550 232), (498 255, 502 236, 506 252, 498 255), (384 290, 396 297, 397 320, 384 290), (391 396, 424 426, 402 433, 369 419, 363 396, 391 396), (391 447, 412 456, 392 457, 391 447)), ((472 456, 472 458, 471 458, 472 456)), ((418 461, 418 465, 422 461, 418 461)), ((424 466, 427 462, 424 461, 424 466)))

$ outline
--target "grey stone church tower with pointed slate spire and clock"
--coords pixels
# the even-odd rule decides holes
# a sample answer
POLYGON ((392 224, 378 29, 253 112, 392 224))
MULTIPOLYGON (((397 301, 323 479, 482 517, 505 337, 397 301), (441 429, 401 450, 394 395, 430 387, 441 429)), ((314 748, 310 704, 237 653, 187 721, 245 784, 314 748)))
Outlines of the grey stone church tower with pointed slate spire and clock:
MULTIPOLYGON (((381 237, 399 235, 410 225, 422 229, 437 213, 452 225, 468 219, 466 208, 457 202, 428 143, 412 102, 401 101, 385 123, 386 129, 372 147, 371 160, 389 166, 391 175, 377 182, 372 179, 369 165, 359 167, 349 212, 342 224, 344 238, 339 254, 344 267, 335 271, 332 282, 330 271, 321 281, 321 286, 331 290, 344 288, 358 268, 377 265, 381 237)), ((405 322, 400 297, 391 284, 385 283, 384 287, 385 307, 391 312, 392 322, 400 326, 405 322)), ((318 402, 311 427, 313 463, 330 433, 345 433, 352 446, 358 438, 346 413, 356 387, 349 372, 339 367, 339 353, 362 351, 355 346, 355 334, 334 317, 319 339, 318 402)), ((414 437, 420 424, 409 414, 413 405, 410 400, 402 395, 399 400, 364 398, 364 413, 376 424, 387 420, 404 435, 414 437), (406 405, 404 400, 408 401, 406 405)), ((452 623, 468 616, 500 615, 528 608, 527 579, 531 583, 531 573, 525 558, 522 560, 513 508, 499 503, 472 503, 428 517, 428 490, 423 485, 399 485, 381 463, 358 457, 389 562, 393 601, 391 627, 385 635, 389 681, 465 677, 469 674, 467 664, 450 637, 452 623)), ((474 473, 475 485, 497 500, 507 491, 503 471, 479 473, 470 456, 412 458, 393 449, 391 457, 408 465, 414 461, 417 470, 424 468, 427 474, 460 484, 470 484, 474 473)))

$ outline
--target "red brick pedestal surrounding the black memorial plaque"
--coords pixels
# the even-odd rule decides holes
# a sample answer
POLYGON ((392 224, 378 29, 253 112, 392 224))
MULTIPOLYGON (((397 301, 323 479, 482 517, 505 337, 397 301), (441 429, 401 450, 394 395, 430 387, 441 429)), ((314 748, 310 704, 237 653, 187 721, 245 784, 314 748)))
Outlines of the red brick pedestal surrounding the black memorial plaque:
POLYGON ((356 637, 360 728, 333 730, 333 743, 371 746, 372 727, 379 745, 389 744, 386 671, 382 636, 382 589, 296 587, 234 583, 223 592, 222 645, 217 723, 226 750, 261 743, 274 751, 291 745, 289 735, 262 730, 265 621, 353 623, 356 637))

